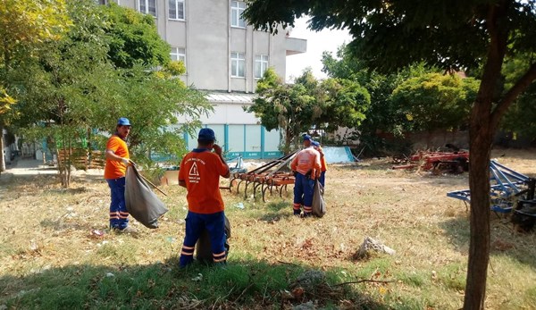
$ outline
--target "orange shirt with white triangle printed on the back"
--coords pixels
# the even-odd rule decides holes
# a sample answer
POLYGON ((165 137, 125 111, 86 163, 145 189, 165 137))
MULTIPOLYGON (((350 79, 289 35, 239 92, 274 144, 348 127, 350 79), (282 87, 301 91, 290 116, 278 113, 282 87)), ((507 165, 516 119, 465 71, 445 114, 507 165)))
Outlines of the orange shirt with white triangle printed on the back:
POLYGON ((229 173, 229 167, 220 156, 208 149, 196 148, 180 162, 179 181, 186 182, 188 210, 197 214, 222 212, 220 176, 229 173))

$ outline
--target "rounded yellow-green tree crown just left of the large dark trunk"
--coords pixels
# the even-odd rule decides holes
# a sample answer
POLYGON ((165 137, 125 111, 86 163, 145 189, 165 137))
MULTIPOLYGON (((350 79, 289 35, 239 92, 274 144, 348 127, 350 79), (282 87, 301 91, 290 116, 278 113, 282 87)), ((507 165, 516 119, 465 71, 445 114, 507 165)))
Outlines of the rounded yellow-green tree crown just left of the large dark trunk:
POLYGON ((404 109, 411 130, 466 128, 479 81, 456 74, 428 73, 404 81, 391 100, 404 109))

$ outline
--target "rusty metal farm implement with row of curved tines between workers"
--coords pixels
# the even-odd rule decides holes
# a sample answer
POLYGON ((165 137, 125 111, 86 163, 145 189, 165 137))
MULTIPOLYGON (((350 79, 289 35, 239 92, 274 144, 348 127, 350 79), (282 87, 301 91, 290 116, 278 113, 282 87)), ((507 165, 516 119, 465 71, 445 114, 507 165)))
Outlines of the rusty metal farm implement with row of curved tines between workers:
POLYGON ((280 197, 283 191, 287 190, 287 185, 294 184, 294 175, 292 172, 283 172, 288 163, 294 158, 297 152, 289 155, 284 155, 270 163, 266 163, 251 172, 234 172, 230 176, 229 190, 236 186, 237 194, 240 193, 240 188, 244 189, 244 198, 247 198, 248 192, 253 197, 258 193, 263 196, 263 201, 266 202, 266 193, 278 192, 280 197))

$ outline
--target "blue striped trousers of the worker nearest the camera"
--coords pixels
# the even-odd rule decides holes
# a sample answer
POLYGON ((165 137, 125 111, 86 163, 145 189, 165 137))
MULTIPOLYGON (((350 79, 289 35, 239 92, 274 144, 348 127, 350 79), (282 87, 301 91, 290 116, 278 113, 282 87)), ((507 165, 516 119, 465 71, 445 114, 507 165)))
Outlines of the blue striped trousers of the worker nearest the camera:
POLYGON ((180 267, 185 267, 194 260, 194 248, 197 239, 203 230, 208 230, 210 245, 213 252, 214 263, 225 262, 227 251, 225 249, 225 214, 218 212, 215 214, 197 214, 188 211, 186 216, 186 236, 180 251, 180 267))

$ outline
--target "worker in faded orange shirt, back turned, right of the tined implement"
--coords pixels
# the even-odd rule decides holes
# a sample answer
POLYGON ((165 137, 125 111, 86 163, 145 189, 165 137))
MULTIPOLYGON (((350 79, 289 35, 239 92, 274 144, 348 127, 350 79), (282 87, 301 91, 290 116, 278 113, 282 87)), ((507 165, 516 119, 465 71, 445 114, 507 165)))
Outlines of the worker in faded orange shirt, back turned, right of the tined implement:
POLYGON ((320 153, 311 145, 311 136, 304 135, 304 149, 299 151, 290 163, 296 175, 294 182, 294 215, 301 214, 304 206, 304 217, 311 216, 313 211, 314 180, 320 176, 320 153))

